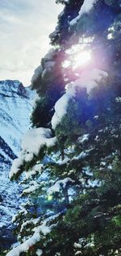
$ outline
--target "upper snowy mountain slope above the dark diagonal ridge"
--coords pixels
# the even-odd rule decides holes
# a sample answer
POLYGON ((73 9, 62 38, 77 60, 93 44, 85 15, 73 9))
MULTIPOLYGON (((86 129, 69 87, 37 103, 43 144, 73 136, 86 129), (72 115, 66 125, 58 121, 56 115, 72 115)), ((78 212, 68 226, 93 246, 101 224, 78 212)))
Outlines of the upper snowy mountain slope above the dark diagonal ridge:
MULTIPOLYGON (((6 145, 18 155, 23 133, 30 127, 31 91, 24 88, 19 81, 0 82, 0 136, 6 145)), ((2 157, 10 157, 2 149, 2 157)))

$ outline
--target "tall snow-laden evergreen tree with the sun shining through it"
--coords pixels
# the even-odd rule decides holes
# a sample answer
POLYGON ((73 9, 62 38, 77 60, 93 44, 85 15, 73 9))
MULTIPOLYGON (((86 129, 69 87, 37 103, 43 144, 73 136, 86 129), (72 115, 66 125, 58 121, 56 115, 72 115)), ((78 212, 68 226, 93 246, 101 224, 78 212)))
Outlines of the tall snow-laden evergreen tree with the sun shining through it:
POLYGON ((7 256, 121 255, 121 2, 59 0, 10 178, 27 195, 7 256))

